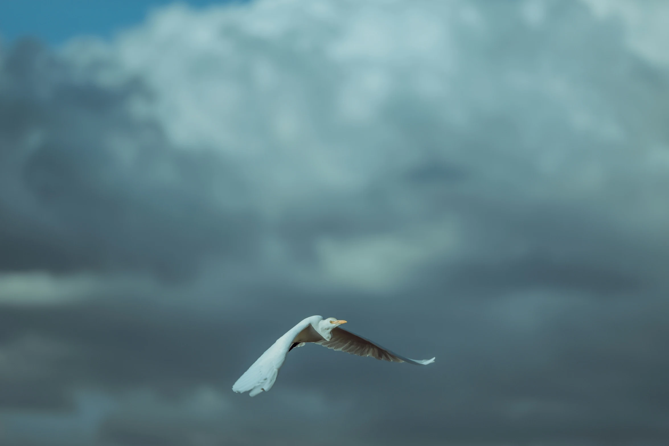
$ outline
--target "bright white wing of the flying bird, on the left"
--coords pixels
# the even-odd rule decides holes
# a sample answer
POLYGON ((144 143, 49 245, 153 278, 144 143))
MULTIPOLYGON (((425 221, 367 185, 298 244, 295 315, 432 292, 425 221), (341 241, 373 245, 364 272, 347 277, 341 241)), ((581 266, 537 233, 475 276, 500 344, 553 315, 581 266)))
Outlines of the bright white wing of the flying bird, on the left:
POLYGON ((286 360, 286 354, 290 348, 293 339, 306 326, 310 324, 310 318, 302 320, 299 324, 288 330, 284 336, 281 336, 244 372, 242 376, 232 386, 232 390, 237 393, 249 392, 249 395, 255 397, 262 391, 269 391, 276 381, 279 369, 286 360))

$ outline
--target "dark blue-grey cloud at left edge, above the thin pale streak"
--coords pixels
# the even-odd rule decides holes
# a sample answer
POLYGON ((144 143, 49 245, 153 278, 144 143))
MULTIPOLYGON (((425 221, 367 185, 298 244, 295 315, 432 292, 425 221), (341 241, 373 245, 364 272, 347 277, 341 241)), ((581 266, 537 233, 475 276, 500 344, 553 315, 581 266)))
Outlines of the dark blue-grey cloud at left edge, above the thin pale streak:
POLYGON ((139 82, 78 78, 34 41, 1 63, 1 269, 174 277, 252 246, 254 219, 209 193, 234 173, 221 159, 179 154, 157 123, 133 118, 128 103, 147 94, 139 82))

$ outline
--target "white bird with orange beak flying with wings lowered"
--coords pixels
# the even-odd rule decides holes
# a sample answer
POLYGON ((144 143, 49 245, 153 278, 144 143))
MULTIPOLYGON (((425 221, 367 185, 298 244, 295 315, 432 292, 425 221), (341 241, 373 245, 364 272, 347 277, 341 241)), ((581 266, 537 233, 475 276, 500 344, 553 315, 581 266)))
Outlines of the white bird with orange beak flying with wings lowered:
POLYGON ((321 316, 311 316, 288 330, 268 348, 252 366, 235 382, 232 390, 237 393, 249 392, 255 397, 262 391, 269 391, 276 381, 279 369, 286 360, 286 354, 295 347, 301 347, 306 342, 314 342, 332 350, 371 356, 379 360, 390 362, 408 362, 409 364, 427 365, 434 362, 432 359, 415 360, 399 356, 387 348, 369 339, 353 334, 340 327, 346 324, 345 320, 336 318, 323 319, 321 316))

